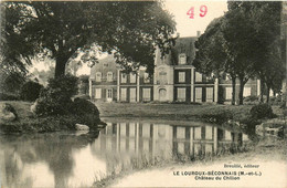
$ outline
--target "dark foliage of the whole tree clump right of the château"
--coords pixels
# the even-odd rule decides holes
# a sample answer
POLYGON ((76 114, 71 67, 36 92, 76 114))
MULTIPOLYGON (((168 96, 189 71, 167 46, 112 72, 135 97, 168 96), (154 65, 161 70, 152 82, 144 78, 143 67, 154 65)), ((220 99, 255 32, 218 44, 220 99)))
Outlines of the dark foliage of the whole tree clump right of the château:
POLYGON ((244 85, 254 76, 259 76, 268 91, 278 91, 286 74, 280 10, 281 2, 228 1, 228 11, 213 20, 198 40, 194 66, 216 76, 230 73, 233 85, 238 77, 240 104, 244 85))

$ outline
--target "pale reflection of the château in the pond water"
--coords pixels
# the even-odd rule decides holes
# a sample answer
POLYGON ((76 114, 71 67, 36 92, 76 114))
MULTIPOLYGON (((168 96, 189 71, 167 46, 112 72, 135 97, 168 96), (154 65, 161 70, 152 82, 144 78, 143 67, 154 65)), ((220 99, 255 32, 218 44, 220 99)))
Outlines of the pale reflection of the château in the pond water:
POLYGON ((247 140, 247 135, 241 132, 212 124, 108 123, 92 147, 106 159, 106 173, 110 174, 159 161, 235 153, 247 140))

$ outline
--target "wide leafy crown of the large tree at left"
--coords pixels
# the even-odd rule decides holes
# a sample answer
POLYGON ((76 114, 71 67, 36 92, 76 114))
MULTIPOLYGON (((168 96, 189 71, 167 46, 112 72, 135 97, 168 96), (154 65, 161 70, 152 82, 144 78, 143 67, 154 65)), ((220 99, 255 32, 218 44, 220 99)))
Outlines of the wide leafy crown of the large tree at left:
MULTIPOLYGON (((174 42, 176 22, 157 1, 23 1, 3 2, 1 9, 6 59, 24 65, 31 56, 45 53, 55 60, 55 76, 65 73, 70 59, 95 49, 114 53, 126 69, 142 65, 152 73, 156 46, 164 54, 174 42)), ((97 59, 89 56, 86 62, 93 65, 97 59)))

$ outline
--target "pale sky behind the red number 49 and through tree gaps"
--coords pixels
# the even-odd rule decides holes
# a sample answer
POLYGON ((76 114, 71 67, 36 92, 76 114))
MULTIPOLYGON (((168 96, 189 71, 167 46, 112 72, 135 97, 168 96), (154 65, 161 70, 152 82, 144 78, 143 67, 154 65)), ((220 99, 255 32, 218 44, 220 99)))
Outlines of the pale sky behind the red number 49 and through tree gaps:
MULTIPOLYGON (((177 22, 177 33, 180 36, 196 36, 196 31, 201 33, 204 32, 205 28, 209 23, 227 11, 226 1, 191 1, 191 0, 163 0, 164 9, 168 10, 177 22), (205 6, 205 7, 204 7, 205 6), (200 17, 200 13, 204 13, 200 11, 202 7, 202 11, 206 10, 204 17, 200 17), (187 12, 194 8, 193 19, 187 14, 187 12)), ((98 59, 103 59, 106 55, 102 55, 98 59)), ((47 65, 36 63, 34 65, 39 71, 47 70, 47 65)), ((82 69, 77 72, 78 75, 87 74, 89 75, 89 67, 84 64, 82 69)))

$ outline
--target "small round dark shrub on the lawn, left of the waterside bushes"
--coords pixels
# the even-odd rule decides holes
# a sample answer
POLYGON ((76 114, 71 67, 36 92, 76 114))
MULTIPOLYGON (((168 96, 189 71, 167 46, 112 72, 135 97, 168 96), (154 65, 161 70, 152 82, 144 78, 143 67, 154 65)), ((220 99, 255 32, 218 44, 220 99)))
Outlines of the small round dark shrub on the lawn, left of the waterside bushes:
POLYGON ((39 97, 41 88, 43 85, 38 82, 28 81, 22 85, 20 96, 23 101, 33 102, 39 97))

